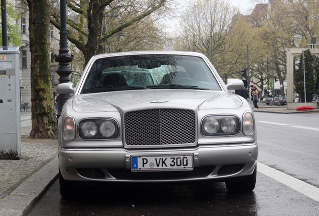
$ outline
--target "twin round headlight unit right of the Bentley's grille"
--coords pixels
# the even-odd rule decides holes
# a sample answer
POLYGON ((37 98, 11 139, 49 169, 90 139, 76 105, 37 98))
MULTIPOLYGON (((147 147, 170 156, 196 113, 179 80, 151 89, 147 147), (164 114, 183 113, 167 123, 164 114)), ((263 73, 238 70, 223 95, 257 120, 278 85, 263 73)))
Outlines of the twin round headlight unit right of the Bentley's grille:
POLYGON ((207 116, 201 125, 201 132, 204 136, 236 135, 239 129, 239 119, 233 115, 207 116))

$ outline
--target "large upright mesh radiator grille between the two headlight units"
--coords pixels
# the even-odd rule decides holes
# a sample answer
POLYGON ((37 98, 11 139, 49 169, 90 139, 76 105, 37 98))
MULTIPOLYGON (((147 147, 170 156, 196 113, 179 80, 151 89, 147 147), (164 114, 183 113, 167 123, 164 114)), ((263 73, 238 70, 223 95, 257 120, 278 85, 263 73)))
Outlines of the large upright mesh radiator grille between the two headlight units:
POLYGON ((195 112, 187 109, 147 109, 124 116, 127 145, 194 143, 195 112))

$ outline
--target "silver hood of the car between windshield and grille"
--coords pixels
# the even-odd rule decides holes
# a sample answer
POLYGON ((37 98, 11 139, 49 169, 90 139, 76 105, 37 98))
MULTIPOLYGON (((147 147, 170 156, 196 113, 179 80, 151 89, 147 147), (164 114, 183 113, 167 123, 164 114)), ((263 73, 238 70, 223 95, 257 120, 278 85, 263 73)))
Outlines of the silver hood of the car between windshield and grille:
POLYGON ((242 105, 236 95, 223 91, 146 89, 80 94, 72 98, 76 112, 130 111, 152 108, 233 109, 242 105))

